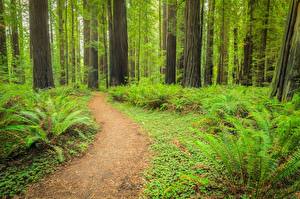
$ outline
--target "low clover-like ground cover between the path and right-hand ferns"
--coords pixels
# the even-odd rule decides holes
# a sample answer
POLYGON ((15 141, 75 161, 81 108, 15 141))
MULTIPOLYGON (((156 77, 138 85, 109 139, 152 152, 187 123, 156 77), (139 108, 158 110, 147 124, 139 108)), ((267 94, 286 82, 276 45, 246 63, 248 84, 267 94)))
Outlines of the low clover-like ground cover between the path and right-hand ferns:
POLYGON ((153 159, 145 174, 146 197, 190 198, 199 193, 207 194, 206 170, 199 164, 203 156, 195 147, 192 131, 198 119, 195 114, 147 111, 126 104, 114 106, 141 124, 152 138, 153 159))

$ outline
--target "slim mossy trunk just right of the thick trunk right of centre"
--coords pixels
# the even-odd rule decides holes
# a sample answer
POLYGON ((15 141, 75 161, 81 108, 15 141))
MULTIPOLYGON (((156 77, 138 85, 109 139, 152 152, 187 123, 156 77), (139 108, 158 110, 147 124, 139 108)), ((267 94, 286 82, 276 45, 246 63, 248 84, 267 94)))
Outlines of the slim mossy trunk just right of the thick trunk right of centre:
POLYGON ((214 22, 215 22, 215 0, 208 0, 208 22, 207 22, 207 48, 204 84, 212 85, 214 67, 214 22))

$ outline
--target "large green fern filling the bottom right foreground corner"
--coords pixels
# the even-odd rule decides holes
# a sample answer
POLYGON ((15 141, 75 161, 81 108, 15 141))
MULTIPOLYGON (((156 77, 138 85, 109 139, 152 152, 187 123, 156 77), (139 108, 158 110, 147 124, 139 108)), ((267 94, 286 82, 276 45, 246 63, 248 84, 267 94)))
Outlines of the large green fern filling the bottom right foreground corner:
POLYGON ((273 138, 251 129, 238 135, 202 133, 200 137, 197 145, 217 174, 216 179, 232 194, 269 198, 287 196, 299 189, 300 150, 281 159, 273 151, 273 138))

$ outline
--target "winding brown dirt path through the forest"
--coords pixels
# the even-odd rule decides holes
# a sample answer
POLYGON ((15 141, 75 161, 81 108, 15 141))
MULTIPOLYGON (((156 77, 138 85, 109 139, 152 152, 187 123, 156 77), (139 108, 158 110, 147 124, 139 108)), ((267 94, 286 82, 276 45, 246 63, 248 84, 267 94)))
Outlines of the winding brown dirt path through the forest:
POLYGON ((102 126, 88 153, 31 187, 28 198, 138 198, 148 139, 139 127, 95 94, 89 104, 102 126))

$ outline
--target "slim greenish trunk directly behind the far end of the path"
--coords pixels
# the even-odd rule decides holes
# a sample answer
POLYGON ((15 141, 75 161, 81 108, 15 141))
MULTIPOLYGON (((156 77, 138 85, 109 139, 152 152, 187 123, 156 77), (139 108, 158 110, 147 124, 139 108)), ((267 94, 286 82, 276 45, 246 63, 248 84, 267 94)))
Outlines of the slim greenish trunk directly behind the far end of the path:
POLYGON ((90 47, 90 68, 88 74, 88 87, 90 89, 98 89, 99 88, 99 71, 98 71, 98 17, 97 17, 97 9, 96 6, 91 6, 91 32, 90 32, 90 39, 91 43, 93 44, 90 47))

